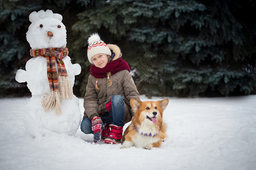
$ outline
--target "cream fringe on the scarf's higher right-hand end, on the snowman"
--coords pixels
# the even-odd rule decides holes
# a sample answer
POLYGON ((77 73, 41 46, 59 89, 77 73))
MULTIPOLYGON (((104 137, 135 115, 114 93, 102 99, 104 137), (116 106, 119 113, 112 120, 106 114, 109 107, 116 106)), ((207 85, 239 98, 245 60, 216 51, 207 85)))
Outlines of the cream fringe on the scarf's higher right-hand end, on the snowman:
POLYGON ((62 99, 72 99, 73 90, 68 76, 59 76, 60 95, 62 99))

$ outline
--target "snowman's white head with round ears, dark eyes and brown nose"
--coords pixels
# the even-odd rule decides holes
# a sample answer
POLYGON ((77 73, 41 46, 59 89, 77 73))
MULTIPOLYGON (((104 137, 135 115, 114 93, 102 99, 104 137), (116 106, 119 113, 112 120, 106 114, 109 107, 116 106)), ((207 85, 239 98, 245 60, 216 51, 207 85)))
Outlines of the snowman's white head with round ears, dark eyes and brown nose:
POLYGON ((32 49, 66 47, 67 31, 60 14, 40 10, 32 12, 29 19, 31 24, 26 37, 32 49))

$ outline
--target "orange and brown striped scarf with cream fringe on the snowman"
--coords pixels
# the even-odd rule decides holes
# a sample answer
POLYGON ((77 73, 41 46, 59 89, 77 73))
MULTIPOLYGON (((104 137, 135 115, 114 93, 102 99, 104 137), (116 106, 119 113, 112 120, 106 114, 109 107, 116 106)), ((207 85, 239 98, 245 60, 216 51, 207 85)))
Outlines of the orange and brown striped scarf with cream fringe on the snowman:
POLYGON ((30 50, 30 56, 46 58, 47 77, 51 92, 49 95, 43 97, 42 105, 44 111, 48 112, 49 109, 55 109, 57 115, 61 114, 60 100, 71 99, 73 97, 71 82, 63 62, 63 58, 67 55, 68 48, 30 50))

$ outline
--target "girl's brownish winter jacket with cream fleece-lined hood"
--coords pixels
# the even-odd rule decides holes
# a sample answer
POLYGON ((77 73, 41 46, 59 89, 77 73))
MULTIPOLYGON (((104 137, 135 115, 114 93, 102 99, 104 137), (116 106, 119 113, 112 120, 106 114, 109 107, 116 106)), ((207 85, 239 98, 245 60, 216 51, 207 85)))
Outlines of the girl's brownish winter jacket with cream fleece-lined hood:
MULTIPOLYGON (((108 44, 110 50, 113 50, 115 57, 113 60, 122 56, 121 50, 117 45, 108 44)), ((95 87, 96 79, 89 75, 88 84, 86 86, 86 93, 84 96, 84 117, 88 116, 92 120, 93 116, 99 116, 102 112, 107 112, 106 104, 109 103, 114 95, 123 97, 125 103, 125 124, 131 121, 133 111, 130 107, 130 99, 139 99, 139 92, 134 84, 128 70, 121 70, 118 73, 110 76, 112 86, 108 86, 108 78, 100 78, 98 80, 98 88, 95 87)))

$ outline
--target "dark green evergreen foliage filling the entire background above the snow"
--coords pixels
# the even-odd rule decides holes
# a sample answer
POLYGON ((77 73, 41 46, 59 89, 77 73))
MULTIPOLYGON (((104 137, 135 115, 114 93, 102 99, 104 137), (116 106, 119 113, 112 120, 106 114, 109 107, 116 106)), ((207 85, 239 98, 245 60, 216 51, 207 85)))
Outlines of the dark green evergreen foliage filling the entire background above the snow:
POLYGON ((15 70, 29 57, 28 15, 50 8, 63 15, 69 54, 82 67, 74 87, 78 96, 90 74, 86 50, 93 32, 121 48, 141 94, 255 94, 253 1, 4 1, 1 7, 1 89, 15 84, 15 70))

